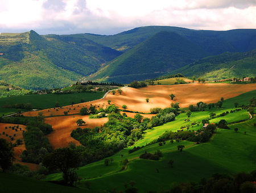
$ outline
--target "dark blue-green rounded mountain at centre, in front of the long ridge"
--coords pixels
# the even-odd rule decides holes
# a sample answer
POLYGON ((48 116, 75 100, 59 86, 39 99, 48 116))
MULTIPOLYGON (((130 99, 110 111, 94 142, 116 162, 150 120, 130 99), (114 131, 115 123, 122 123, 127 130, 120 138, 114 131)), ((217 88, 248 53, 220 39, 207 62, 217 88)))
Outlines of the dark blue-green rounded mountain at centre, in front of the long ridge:
POLYGON ((109 62, 88 79, 129 83, 154 78, 209 54, 174 32, 159 32, 109 62))

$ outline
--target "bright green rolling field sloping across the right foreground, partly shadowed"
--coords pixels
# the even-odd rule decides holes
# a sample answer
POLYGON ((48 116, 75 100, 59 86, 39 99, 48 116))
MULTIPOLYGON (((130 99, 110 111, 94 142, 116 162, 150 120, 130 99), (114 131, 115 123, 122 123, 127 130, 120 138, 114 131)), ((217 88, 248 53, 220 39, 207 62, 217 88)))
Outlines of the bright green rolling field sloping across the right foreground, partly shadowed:
MULTIPOLYGON (((181 125, 201 121, 209 116, 209 112, 215 112, 218 115, 234 110, 234 102, 248 104, 249 99, 255 94, 256 90, 224 100, 223 107, 219 109, 192 112, 189 122, 184 121, 187 118, 185 113, 180 114, 175 121, 147 131, 135 146, 146 145, 166 131, 180 129, 181 125)), ((209 178, 214 173, 232 175, 241 171, 255 170, 256 127, 253 124, 256 123, 256 119, 249 119, 247 111, 242 110, 212 119, 210 123, 218 123, 220 119, 225 119, 228 123, 237 123, 229 124, 230 130, 217 129, 216 134, 207 143, 196 145, 195 142, 181 141, 171 144, 170 141, 166 141, 165 145, 152 144, 129 154, 128 150, 133 148, 131 146, 112 156, 114 162, 109 166, 105 166, 104 160, 101 160, 80 167, 77 170, 82 178, 79 187, 85 188, 89 181, 92 190, 125 190, 124 184, 134 181, 134 187, 138 188, 139 192, 163 191, 168 190, 172 182, 199 182, 200 179, 209 178), (234 128, 238 128, 238 132, 234 132, 234 128), (185 145, 184 151, 177 151, 177 145, 185 145), (154 153, 156 150, 163 152, 163 157, 159 161, 138 158, 145 151, 154 153), (125 159, 129 160, 129 164, 126 170, 121 170, 122 161, 125 159), (174 160, 174 168, 168 165, 170 159, 174 160)), ((190 129, 197 130, 201 127, 203 127, 202 124, 190 129)), ((61 174, 51 174, 47 176, 46 181, 61 178, 61 174)))

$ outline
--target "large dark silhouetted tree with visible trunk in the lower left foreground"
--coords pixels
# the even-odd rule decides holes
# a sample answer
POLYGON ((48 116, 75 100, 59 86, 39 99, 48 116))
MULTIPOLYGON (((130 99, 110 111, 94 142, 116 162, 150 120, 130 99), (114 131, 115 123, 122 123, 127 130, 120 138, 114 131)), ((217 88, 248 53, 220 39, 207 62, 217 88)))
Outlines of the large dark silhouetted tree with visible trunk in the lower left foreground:
POLYGON ((80 166, 81 154, 75 149, 59 148, 47 154, 43 160, 43 165, 50 171, 59 169, 63 173, 63 180, 69 186, 78 180, 76 171, 73 170, 80 166))

